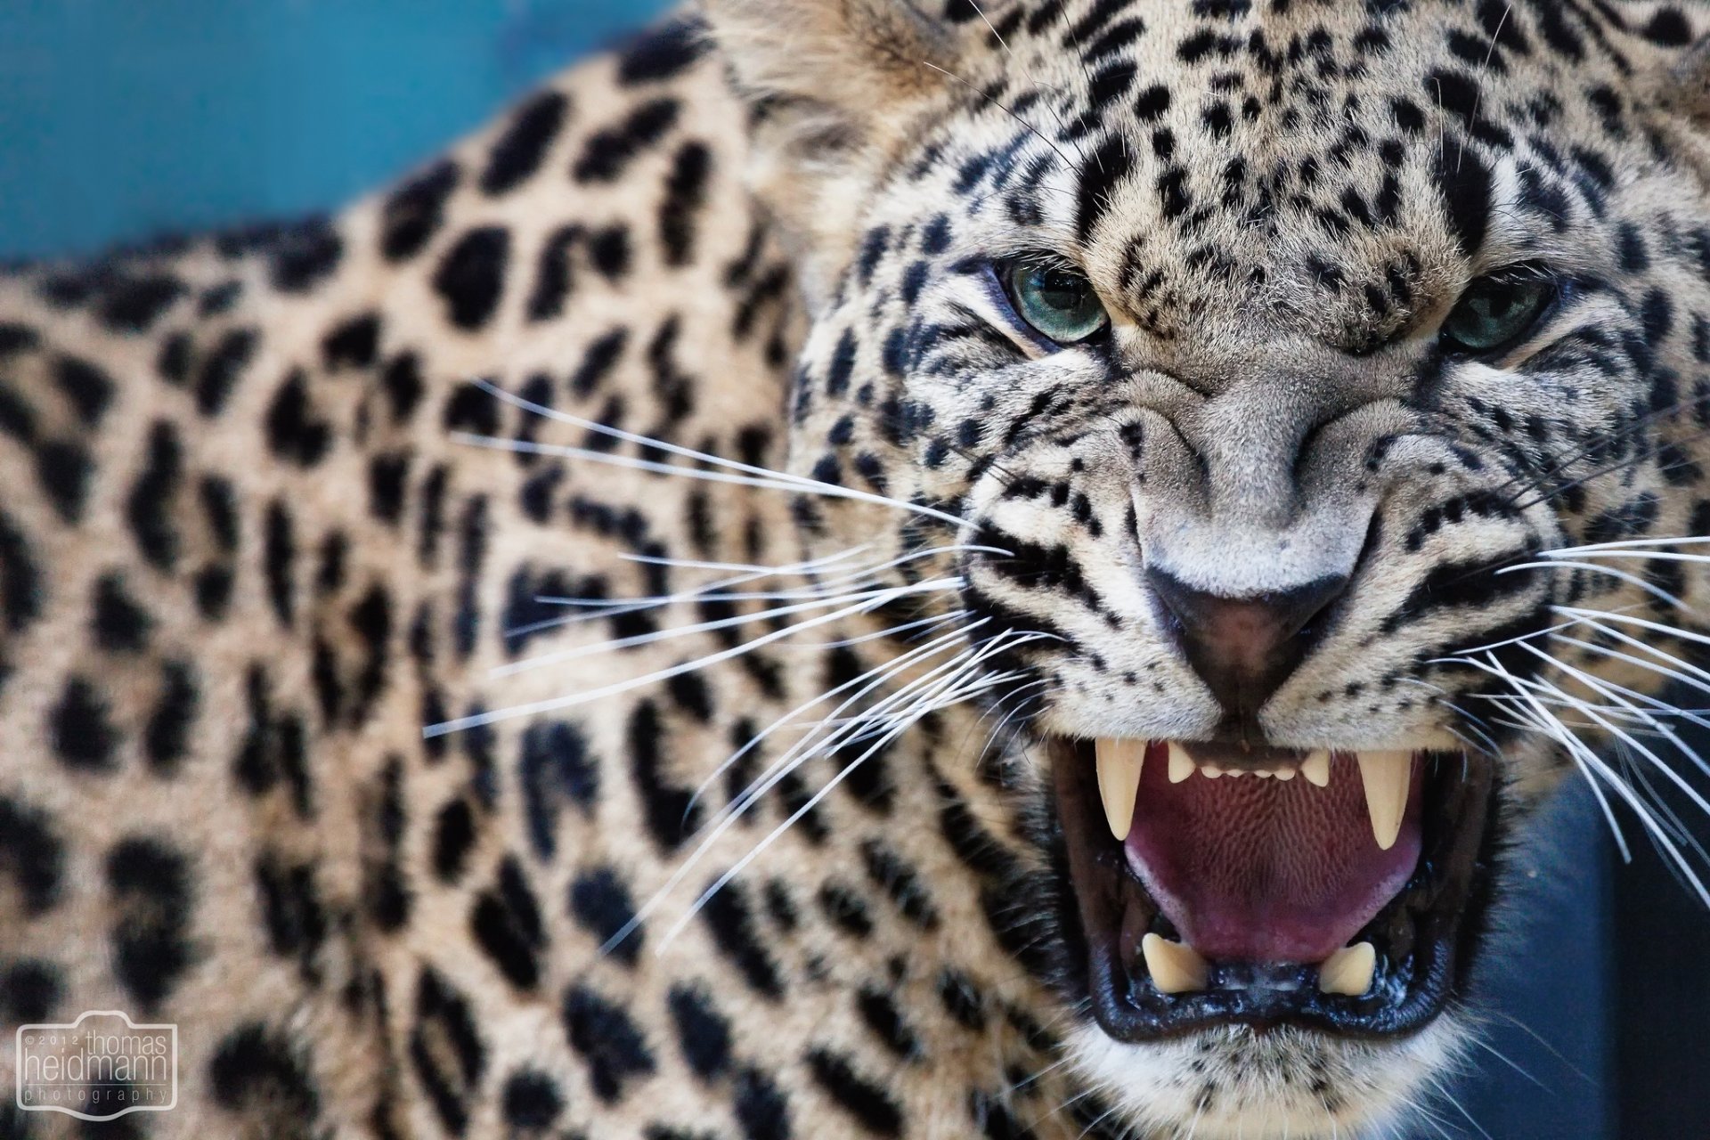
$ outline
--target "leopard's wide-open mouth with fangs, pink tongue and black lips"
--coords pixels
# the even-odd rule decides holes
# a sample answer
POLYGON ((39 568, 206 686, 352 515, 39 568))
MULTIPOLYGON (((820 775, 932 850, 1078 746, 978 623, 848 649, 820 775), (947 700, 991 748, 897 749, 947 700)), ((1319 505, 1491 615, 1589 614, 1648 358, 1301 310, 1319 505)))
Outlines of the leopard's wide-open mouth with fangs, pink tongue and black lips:
POLYGON ((1052 745, 1100 1025, 1404 1034, 1464 979, 1493 774, 1460 752, 1052 745))

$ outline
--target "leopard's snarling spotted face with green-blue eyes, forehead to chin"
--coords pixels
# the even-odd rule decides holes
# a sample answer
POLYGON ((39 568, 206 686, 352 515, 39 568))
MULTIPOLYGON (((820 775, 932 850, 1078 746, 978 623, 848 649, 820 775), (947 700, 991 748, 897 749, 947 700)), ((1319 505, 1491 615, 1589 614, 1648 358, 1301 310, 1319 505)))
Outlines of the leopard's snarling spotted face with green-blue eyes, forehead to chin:
POLYGON ((797 226, 828 268, 793 463, 964 523, 804 526, 959 547, 1021 725, 980 786, 1053 868, 1033 904, 1105 1094, 1195 1137, 1382 1119, 1464 1039, 1513 819, 1599 776, 1575 732, 1642 720, 1647 622, 1695 590, 1669 547, 1582 549, 1703 530, 1710 227, 1657 96, 1695 32, 845 9, 905 94, 862 137, 793 92, 780 154, 846 162, 797 226))

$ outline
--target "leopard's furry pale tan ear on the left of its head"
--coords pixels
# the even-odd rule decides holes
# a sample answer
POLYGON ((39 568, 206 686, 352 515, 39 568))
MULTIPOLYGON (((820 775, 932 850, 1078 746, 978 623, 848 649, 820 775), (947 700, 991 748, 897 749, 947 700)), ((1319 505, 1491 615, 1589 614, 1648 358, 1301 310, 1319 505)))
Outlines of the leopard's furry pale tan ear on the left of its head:
POLYGON ((756 111, 751 185, 817 308, 852 256, 865 191, 954 82, 956 41, 911 0, 705 0, 705 10, 756 111))

